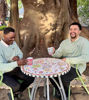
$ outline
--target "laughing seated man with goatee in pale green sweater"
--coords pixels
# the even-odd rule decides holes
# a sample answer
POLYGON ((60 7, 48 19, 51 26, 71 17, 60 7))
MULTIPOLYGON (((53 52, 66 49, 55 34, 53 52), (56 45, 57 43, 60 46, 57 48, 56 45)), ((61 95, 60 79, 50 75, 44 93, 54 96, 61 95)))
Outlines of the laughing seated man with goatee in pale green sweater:
MULTIPOLYGON (((76 73, 76 65, 78 64, 78 71, 82 74, 86 70, 86 63, 89 62, 89 41, 79 36, 81 29, 79 23, 72 23, 69 26, 70 38, 62 41, 60 47, 52 54, 53 57, 62 58, 63 61, 69 63, 71 66, 70 71, 61 76, 67 97, 70 82, 78 76, 76 73)), ((58 82, 58 78, 56 77, 55 79, 58 82)), ((50 79, 50 81, 58 90, 52 79, 50 79)))

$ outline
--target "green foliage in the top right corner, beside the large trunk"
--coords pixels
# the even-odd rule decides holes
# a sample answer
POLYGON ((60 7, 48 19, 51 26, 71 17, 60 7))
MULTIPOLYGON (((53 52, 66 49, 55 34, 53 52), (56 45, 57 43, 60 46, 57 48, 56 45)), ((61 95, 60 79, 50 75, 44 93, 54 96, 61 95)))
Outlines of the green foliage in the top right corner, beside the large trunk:
POLYGON ((89 0, 77 0, 78 15, 82 22, 89 25, 89 0))

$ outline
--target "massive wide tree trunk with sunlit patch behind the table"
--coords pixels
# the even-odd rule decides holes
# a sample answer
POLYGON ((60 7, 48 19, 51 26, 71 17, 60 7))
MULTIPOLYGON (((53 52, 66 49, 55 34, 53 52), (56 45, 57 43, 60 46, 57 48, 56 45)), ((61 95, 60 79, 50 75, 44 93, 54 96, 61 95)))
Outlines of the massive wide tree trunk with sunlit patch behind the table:
POLYGON ((69 24, 78 21, 76 0, 22 0, 24 17, 20 35, 24 56, 49 56, 47 48, 59 47, 68 37, 69 24))

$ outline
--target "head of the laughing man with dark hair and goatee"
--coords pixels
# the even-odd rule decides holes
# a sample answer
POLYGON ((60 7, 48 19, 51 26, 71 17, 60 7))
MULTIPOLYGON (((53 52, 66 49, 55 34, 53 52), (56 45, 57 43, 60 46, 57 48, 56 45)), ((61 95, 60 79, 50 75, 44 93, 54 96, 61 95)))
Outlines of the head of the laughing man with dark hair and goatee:
POLYGON ((82 27, 79 23, 74 22, 69 26, 69 34, 71 39, 77 39, 81 33, 82 27))

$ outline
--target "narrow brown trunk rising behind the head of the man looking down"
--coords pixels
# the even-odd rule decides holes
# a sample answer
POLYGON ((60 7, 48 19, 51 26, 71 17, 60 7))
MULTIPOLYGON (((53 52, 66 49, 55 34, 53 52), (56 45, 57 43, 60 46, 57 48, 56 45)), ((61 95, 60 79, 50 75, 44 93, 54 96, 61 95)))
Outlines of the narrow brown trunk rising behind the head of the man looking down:
POLYGON ((10 0, 10 26, 15 29, 16 32, 16 42, 20 45, 19 38, 19 12, 18 12, 18 0, 10 0))

